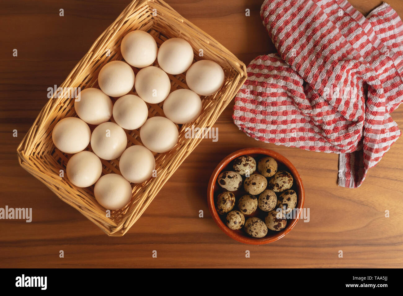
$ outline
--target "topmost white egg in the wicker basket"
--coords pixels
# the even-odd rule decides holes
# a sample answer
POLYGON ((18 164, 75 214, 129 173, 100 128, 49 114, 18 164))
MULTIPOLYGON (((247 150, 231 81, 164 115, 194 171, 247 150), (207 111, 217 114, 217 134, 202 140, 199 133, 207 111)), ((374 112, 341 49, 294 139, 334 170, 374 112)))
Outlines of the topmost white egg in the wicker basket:
POLYGON ((125 61, 137 68, 144 68, 154 63, 157 50, 155 39, 141 30, 127 33, 120 45, 120 52, 125 61))

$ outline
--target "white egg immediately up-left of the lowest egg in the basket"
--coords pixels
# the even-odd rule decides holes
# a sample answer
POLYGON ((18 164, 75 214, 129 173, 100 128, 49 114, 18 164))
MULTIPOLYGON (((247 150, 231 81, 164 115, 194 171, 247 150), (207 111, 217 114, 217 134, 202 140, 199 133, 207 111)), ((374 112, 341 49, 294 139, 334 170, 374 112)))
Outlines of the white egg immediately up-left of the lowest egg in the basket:
POLYGON ((101 160, 90 151, 76 153, 67 162, 67 178, 77 187, 91 186, 97 182, 101 173, 101 160))

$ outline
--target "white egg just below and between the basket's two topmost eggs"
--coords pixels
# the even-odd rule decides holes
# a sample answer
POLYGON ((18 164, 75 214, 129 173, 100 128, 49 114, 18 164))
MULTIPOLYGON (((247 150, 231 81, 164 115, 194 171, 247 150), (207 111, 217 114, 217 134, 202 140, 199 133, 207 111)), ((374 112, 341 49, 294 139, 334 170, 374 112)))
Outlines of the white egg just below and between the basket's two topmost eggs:
POLYGON ((135 89, 147 103, 158 104, 168 97, 171 81, 162 69, 148 66, 137 73, 135 89))

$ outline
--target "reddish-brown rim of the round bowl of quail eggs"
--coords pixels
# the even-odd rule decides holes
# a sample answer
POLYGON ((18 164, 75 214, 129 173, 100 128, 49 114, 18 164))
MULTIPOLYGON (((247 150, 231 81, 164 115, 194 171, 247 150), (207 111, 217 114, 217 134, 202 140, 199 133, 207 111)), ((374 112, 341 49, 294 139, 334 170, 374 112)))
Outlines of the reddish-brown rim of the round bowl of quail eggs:
POLYGON ((304 199, 305 199, 305 193, 304 193, 304 187, 302 184, 301 177, 299 176, 299 173, 297 169, 291 164, 291 162, 285 158, 283 155, 280 153, 277 153, 275 151, 272 151, 270 149, 265 149, 265 148, 245 148, 241 149, 238 151, 235 151, 222 159, 222 161, 216 166, 214 169, 214 172, 212 173, 210 180, 208 182, 208 190, 207 190, 207 202, 208 202, 208 209, 210 210, 211 216, 213 220, 216 222, 218 227, 230 238, 233 238, 234 240, 237 240, 238 242, 242 242, 244 244, 268 244, 270 242, 274 242, 276 240, 279 240, 283 236, 285 236, 287 233, 293 229, 295 224, 297 224, 299 220, 299 215, 292 221, 291 224, 287 224, 285 230, 279 232, 278 234, 269 236, 269 237, 264 237, 264 238, 249 238, 246 235, 239 234, 235 230, 231 230, 228 228, 224 222, 220 219, 220 216, 217 213, 215 204, 214 204, 214 187, 218 186, 216 184, 216 180, 218 178, 218 175, 222 170, 235 158, 240 157, 242 155, 249 155, 249 154, 262 154, 262 155, 268 155, 273 157, 274 159, 282 162, 287 168, 290 170, 291 174, 293 175, 297 189, 299 191, 299 196, 298 196, 298 203, 297 207, 299 209, 303 209, 303 204, 304 204, 304 199))

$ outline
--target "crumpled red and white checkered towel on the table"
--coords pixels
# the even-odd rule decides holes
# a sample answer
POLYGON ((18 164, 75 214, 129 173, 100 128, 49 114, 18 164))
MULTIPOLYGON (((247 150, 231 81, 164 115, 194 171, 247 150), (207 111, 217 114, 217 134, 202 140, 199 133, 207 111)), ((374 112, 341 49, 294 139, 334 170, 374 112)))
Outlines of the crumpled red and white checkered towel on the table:
POLYGON ((384 3, 367 17, 346 0, 266 0, 278 54, 258 56, 233 119, 257 140, 339 153, 339 186, 361 185, 401 132, 403 23, 384 3))

